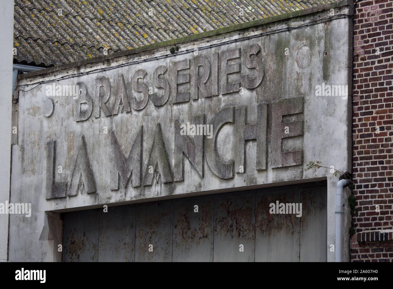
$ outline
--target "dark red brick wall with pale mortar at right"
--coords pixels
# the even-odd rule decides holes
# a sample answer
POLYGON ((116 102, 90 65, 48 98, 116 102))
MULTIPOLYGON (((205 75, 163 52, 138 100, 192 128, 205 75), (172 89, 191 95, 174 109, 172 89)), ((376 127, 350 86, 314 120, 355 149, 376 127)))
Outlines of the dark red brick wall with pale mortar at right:
POLYGON ((392 0, 355 4, 353 193, 358 213, 352 220, 356 234, 351 238, 351 261, 393 261, 391 233, 380 231, 393 229, 392 4, 392 0), (374 232, 362 234, 367 231, 374 232))

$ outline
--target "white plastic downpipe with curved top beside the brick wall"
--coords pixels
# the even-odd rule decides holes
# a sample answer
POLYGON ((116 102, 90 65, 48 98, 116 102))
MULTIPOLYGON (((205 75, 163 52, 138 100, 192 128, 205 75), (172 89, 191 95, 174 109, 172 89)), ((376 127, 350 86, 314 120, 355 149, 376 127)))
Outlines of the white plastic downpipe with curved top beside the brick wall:
POLYGON ((349 184, 348 180, 339 180, 336 186, 336 262, 342 261, 342 214, 343 214, 343 187, 349 184))

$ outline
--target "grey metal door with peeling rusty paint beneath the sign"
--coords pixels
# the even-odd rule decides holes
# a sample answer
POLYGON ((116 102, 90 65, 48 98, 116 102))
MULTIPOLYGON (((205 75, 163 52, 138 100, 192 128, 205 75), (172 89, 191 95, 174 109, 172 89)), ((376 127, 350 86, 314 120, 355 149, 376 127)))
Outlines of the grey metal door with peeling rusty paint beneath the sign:
POLYGON ((318 182, 64 213, 63 261, 326 261, 326 207, 318 182))

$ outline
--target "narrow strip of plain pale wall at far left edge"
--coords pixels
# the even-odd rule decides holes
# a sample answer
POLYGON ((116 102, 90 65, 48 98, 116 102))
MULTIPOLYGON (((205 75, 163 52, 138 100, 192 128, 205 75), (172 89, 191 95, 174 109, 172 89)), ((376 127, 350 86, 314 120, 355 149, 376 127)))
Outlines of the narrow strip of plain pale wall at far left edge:
MULTIPOLYGON (((0 202, 9 201, 11 167, 12 48, 14 1, 2 2, 0 9, 0 202)), ((7 261, 8 215, 0 214, 0 261, 7 261)))

